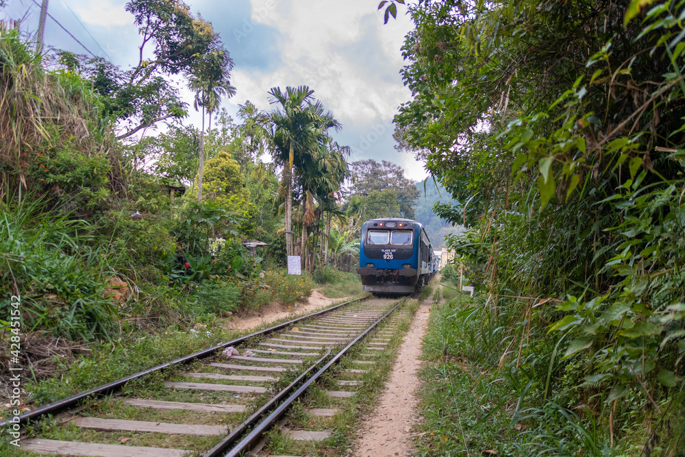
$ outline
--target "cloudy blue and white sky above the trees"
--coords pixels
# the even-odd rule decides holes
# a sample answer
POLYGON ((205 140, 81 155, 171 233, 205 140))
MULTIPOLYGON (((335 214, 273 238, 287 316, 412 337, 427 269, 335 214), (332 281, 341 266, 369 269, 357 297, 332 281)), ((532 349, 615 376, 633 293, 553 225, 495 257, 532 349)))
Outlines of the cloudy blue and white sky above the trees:
MULTIPOLYGON (((41 0, 36 0, 40 3, 41 0)), ((22 18, 38 28, 40 5, 7 0, 5 18, 22 18)), ((50 0, 49 13, 95 55, 128 68, 140 44, 125 0, 50 0)), ((269 109, 273 86, 306 84, 343 123, 338 143, 353 150, 351 160, 373 158, 400 164, 414 180, 427 176, 422 162, 393 146, 393 116, 410 92, 402 84, 400 47, 412 24, 402 10, 383 24, 377 0, 186 0, 219 32, 235 68, 237 94, 223 102, 231 114, 250 100, 269 109)), ((55 21, 45 29, 48 45, 77 53, 84 49, 55 21)), ((186 93, 188 101, 192 99, 186 93)), ((199 125, 199 115, 189 122, 199 125)))

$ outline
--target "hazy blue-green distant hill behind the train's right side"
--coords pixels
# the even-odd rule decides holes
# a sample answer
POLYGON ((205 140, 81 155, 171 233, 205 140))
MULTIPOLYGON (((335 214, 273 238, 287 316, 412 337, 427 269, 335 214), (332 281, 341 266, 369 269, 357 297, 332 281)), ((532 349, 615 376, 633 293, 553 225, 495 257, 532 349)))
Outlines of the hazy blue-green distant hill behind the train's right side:
POLYGON ((423 181, 417 182, 416 188, 419 189, 421 196, 416 200, 414 219, 423 224, 434 249, 447 247, 445 244, 445 235, 463 232, 464 227, 463 225, 452 226, 448 221, 441 220, 440 217, 433 212, 433 205, 438 201, 454 205, 457 201, 452 199, 451 195, 449 195, 443 186, 438 184, 438 187, 436 188, 435 183, 430 179, 425 183, 425 192, 423 190, 423 181))

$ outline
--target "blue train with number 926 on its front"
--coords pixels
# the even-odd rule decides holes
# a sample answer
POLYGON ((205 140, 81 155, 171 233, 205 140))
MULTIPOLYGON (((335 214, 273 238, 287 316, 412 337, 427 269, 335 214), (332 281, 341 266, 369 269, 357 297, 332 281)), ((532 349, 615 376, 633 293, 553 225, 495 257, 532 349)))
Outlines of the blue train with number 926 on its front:
POLYGON ((364 291, 412 293, 438 271, 438 262, 421 223, 411 219, 373 219, 362 225, 359 269, 364 291))

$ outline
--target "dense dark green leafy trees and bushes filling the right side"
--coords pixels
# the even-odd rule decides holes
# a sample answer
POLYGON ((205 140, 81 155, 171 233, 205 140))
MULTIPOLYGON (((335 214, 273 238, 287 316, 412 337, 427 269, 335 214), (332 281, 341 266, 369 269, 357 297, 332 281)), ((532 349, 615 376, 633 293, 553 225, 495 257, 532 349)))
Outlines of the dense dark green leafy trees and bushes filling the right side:
MULTIPOLYGON (((449 243, 493 294, 488 319, 497 321, 488 328, 500 329, 499 341, 517 338, 523 360, 512 377, 530 380, 529 395, 543 399, 517 404, 560 434, 575 433, 563 448, 523 434, 540 452, 599 455, 610 439, 595 427, 614 421, 616 445, 638 419, 664 423, 682 408, 673 402, 685 354, 684 7, 409 7, 416 31, 403 49, 404 77, 414 97, 397 116, 398 132, 460 202, 438 213, 473 227, 449 243), (499 295, 562 304, 536 314, 499 295), (523 330, 536 319, 553 324, 549 334, 523 330), (569 410, 579 399, 588 410, 576 417, 569 410)), ((469 350, 501 366, 513 349, 485 341, 483 330, 469 350)), ((655 427, 635 439, 649 454, 669 433, 655 427)))

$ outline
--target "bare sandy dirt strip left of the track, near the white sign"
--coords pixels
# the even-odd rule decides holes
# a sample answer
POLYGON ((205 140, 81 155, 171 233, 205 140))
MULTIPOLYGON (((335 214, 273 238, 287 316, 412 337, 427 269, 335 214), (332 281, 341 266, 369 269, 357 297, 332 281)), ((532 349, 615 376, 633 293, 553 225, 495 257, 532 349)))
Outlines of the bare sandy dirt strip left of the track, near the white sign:
POLYGON ((256 311, 234 314, 229 321, 226 321, 226 328, 229 330, 251 330, 284 317, 295 319, 300 314, 308 314, 319 308, 327 308, 334 303, 341 303, 347 300, 349 298, 324 297, 319 291, 314 289, 306 303, 299 303, 297 306, 291 305, 290 307, 272 303, 256 311))

